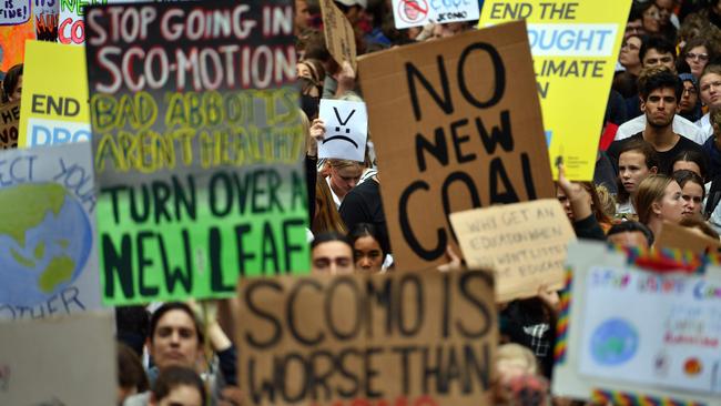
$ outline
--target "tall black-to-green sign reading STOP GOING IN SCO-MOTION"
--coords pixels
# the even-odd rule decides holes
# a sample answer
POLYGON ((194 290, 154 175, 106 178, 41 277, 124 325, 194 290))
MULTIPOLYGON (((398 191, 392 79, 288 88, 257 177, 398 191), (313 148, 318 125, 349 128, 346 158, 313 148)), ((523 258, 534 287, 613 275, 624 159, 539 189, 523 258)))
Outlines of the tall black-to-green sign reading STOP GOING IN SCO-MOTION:
POLYGON ((90 6, 85 30, 106 303, 308 272, 292 2, 90 6))

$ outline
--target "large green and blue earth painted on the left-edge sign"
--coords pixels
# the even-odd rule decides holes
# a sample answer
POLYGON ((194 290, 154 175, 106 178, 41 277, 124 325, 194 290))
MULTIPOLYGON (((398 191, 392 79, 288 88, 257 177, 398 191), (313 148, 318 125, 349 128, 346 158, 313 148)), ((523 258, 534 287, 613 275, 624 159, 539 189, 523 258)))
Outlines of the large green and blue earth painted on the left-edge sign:
POLYGON ((0 189, 0 303, 48 301, 78 278, 91 247, 88 215, 60 184, 0 189))

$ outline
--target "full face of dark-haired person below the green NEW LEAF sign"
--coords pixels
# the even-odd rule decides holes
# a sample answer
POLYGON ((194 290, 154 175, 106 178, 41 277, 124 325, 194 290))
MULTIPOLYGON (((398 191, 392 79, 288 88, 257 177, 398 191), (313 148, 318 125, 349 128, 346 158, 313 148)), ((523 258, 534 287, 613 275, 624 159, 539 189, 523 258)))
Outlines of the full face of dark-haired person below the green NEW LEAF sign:
POLYGON ((151 337, 150 354, 160 369, 167 366, 195 368, 202 345, 193 318, 181 309, 167 311, 158 321, 151 337))

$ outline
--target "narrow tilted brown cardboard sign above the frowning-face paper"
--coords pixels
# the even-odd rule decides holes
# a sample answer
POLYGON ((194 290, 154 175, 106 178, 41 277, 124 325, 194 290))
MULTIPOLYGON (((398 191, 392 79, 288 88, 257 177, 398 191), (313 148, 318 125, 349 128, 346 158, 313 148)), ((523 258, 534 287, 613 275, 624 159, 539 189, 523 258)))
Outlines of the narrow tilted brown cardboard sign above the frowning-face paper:
POLYGON ((353 26, 345 14, 333 3, 333 0, 319 0, 323 16, 323 33, 328 52, 338 64, 348 61, 356 71, 356 47, 353 26))

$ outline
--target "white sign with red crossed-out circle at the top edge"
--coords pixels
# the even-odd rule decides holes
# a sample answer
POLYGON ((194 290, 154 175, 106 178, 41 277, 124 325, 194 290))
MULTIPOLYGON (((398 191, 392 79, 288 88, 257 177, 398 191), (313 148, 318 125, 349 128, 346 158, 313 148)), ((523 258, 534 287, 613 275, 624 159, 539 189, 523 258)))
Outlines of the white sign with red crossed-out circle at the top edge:
POLYGON ((397 29, 478 20, 480 9, 477 0, 393 0, 392 7, 397 29))

